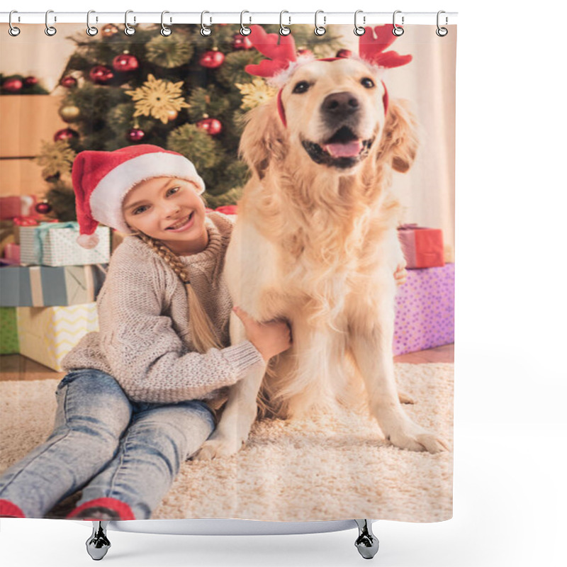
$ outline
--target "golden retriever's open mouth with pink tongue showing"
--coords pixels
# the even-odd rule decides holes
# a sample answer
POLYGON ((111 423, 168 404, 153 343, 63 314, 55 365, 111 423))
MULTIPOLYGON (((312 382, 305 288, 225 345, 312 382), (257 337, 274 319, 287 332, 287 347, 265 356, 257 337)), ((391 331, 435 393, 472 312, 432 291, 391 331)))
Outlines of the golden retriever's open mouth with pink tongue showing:
POLYGON ((373 140, 361 140, 348 126, 339 128, 322 144, 301 140, 305 151, 315 163, 342 169, 352 167, 364 159, 372 142, 373 140))

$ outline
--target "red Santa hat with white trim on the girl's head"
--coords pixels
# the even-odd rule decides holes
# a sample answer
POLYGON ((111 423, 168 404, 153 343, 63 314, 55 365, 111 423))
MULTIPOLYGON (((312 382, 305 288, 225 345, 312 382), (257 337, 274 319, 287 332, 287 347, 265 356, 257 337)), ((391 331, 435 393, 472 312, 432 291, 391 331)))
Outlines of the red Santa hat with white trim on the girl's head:
POLYGON ((203 179, 189 159, 159 146, 141 144, 113 152, 80 152, 72 169, 79 245, 84 248, 97 245, 99 238, 94 231, 99 223, 128 232, 122 213, 124 198, 136 184, 152 177, 186 179, 198 186, 199 195, 205 191, 203 179))

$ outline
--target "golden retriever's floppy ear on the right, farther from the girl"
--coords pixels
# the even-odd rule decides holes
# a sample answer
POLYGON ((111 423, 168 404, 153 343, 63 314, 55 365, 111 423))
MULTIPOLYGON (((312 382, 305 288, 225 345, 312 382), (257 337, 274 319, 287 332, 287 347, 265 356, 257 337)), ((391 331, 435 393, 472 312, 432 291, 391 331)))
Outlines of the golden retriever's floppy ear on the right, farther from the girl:
POLYGON ((378 151, 378 159, 390 162, 392 168, 400 173, 410 169, 418 145, 417 124, 408 107, 408 101, 390 101, 378 151))

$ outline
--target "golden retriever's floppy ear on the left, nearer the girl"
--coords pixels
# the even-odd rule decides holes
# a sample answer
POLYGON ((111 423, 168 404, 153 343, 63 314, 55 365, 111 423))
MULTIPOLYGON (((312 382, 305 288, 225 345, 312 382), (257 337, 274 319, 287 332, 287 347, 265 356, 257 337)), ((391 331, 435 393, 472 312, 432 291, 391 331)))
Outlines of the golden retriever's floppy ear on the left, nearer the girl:
POLYGON ((240 138, 240 155, 262 179, 271 162, 281 161, 286 155, 286 133, 276 99, 253 108, 246 121, 240 138))

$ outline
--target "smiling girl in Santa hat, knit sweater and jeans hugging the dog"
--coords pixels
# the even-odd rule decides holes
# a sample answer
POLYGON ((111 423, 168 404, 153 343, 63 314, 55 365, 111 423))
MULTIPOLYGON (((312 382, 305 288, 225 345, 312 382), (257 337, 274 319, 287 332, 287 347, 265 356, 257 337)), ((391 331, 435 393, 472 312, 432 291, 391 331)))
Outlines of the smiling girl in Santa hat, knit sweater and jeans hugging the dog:
POLYGON ((0 515, 44 517, 82 490, 67 517, 143 520, 215 427, 226 389, 288 349, 285 322, 235 313, 223 279, 233 222, 206 214, 186 157, 152 145, 77 155, 79 244, 98 223, 129 234, 97 298, 99 331, 63 360, 55 427, 0 478, 0 515))

